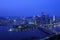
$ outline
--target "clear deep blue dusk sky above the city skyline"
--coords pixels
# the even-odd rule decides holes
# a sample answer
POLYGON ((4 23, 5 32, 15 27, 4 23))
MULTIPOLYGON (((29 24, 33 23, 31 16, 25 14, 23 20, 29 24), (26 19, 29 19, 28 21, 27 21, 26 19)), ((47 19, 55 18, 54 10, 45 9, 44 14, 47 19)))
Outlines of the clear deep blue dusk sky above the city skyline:
POLYGON ((60 0, 0 0, 0 16, 60 16, 60 0))

